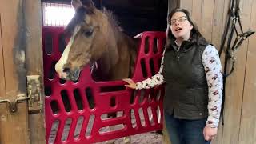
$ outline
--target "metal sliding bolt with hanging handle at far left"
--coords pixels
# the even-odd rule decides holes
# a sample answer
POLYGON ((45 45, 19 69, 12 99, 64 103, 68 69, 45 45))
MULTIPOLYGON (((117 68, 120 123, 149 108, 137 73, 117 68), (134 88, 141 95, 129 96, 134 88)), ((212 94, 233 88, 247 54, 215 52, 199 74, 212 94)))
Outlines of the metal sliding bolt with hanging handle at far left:
POLYGON ((29 98, 26 97, 25 94, 18 94, 17 99, 15 99, 14 102, 10 102, 9 99, 2 99, 2 100, 0 100, 0 103, 8 103, 10 112, 15 113, 17 111, 17 103, 26 102, 27 99, 29 99, 29 98))

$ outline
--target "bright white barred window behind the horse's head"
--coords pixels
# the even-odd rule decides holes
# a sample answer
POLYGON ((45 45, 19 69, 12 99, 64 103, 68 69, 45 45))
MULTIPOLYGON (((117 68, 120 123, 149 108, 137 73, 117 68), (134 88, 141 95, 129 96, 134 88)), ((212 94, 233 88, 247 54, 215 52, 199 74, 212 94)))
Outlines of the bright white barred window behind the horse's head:
POLYGON ((66 26, 74 16, 74 9, 68 4, 42 3, 43 26, 66 26))

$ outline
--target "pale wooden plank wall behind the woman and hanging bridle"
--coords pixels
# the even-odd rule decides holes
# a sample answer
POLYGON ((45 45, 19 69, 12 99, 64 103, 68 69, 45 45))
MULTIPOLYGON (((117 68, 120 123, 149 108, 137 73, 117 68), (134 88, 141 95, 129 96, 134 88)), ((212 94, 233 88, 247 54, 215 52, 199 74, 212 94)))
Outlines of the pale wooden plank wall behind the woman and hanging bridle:
MULTIPOLYGON (((169 0, 169 11, 172 0, 169 0)), ((176 5, 176 4, 174 4, 176 5)), ((189 10, 205 38, 218 49, 226 24, 230 0, 178 0, 189 10)), ((177 5, 176 5, 177 6, 177 5)), ((243 30, 256 30, 256 0, 241 0, 243 30)), ((236 53, 234 73, 226 79, 224 126, 218 128, 214 144, 254 144, 256 142, 256 34, 242 43, 236 53)), ((224 54, 222 54, 222 63, 224 54)), ((222 65, 223 66, 223 65, 222 65)))

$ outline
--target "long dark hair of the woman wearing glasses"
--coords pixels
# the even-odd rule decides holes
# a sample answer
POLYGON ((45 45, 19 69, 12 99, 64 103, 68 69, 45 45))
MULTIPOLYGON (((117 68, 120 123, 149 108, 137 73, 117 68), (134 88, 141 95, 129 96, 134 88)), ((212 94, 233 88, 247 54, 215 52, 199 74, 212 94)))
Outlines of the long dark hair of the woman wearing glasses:
MULTIPOLYGON (((201 42, 207 42, 206 38, 204 38, 202 36, 202 34, 199 32, 198 30, 198 26, 192 22, 191 16, 190 16, 190 12, 188 10, 185 9, 180 9, 180 8, 176 8, 174 10, 172 10, 167 17, 167 22, 170 22, 170 18, 176 13, 176 12, 182 12, 184 14, 186 14, 186 18, 187 20, 190 22, 190 25, 193 26, 191 32, 190 32, 190 42, 193 43, 197 43, 200 44, 201 42)), ((170 39, 170 41, 175 41, 176 38, 174 37, 174 34, 171 33, 171 30, 168 31, 168 38, 170 39)))

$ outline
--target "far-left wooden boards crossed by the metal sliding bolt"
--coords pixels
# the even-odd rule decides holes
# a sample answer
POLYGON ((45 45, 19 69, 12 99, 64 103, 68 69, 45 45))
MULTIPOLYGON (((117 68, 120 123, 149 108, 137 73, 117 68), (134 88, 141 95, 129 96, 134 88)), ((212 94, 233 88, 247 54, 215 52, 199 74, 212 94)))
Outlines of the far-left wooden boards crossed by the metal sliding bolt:
MULTIPOLYGON (((0 10, 6 98, 13 101, 17 94, 26 94, 22 0, 2 0, 0 10)), ((1 143, 30 143, 26 102, 18 104, 18 111, 14 114, 7 105, 4 107, 5 110, 0 112, 1 143)))

